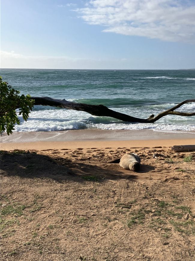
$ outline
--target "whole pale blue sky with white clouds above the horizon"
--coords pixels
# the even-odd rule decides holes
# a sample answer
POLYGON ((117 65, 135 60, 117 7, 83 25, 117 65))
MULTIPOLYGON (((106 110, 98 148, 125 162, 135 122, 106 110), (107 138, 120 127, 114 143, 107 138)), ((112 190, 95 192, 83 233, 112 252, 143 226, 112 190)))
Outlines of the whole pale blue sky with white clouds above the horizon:
POLYGON ((195 1, 1 0, 1 68, 195 68, 195 1))

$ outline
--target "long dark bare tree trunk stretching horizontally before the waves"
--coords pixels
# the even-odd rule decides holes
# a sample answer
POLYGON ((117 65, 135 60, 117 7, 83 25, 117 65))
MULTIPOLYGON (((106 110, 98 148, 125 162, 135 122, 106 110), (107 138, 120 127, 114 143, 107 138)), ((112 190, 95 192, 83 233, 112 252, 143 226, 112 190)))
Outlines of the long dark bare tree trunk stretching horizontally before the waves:
POLYGON ((127 122, 139 122, 139 123, 154 123, 155 121, 161 119, 162 117, 166 115, 179 115, 179 116, 195 116, 195 112, 193 113, 187 113, 187 112, 179 112, 174 111, 177 108, 181 107, 185 103, 189 102, 195 102, 195 99, 193 100, 186 100, 182 101, 181 103, 177 104, 176 106, 165 110, 161 113, 159 113, 157 116, 152 114, 147 119, 137 118, 133 117, 124 113, 120 113, 114 110, 110 110, 106 106, 100 104, 100 105, 90 105, 85 103, 76 103, 76 102, 70 102, 58 99, 53 99, 49 97, 31 97, 35 103, 34 105, 45 105, 45 106, 54 106, 54 107, 61 107, 65 109, 70 110, 81 110, 90 113, 94 116, 107 116, 107 117, 113 117, 118 120, 127 121, 127 122))

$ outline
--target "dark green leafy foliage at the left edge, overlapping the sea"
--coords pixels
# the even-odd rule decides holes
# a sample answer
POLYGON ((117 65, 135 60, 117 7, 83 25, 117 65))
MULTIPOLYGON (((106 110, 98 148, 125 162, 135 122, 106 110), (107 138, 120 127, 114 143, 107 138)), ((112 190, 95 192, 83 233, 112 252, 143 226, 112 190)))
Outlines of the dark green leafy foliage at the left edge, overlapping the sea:
POLYGON ((16 113, 22 114, 26 121, 33 103, 30 95, 19 95, 19 91, 13 89, 7 82, 3 82, 0 76, 0 133, 5 130, 8 135, 12 133, 15 124, 19 124, 16 113), (18 112, 16 109, 19 109, 18 112))

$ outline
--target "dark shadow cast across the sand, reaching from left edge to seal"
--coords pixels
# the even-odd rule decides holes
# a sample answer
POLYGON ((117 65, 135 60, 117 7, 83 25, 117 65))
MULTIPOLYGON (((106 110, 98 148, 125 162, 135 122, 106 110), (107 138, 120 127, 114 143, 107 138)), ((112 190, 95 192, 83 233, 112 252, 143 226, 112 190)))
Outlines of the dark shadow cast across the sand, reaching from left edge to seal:
MULTIPOLYGON (((151 168, 154 169, 151 166, 141 165, 139 173, 148 172, 151 168)), ((99 167, 28 151, 1 151, 0 170, 3 175, 29 179, 49 178, 58 182, 64 180, 104 182, 106 179, 137 179, 137 173, 125 171, 121 169, 119 164, 105 164, 105 166, 99 167)))

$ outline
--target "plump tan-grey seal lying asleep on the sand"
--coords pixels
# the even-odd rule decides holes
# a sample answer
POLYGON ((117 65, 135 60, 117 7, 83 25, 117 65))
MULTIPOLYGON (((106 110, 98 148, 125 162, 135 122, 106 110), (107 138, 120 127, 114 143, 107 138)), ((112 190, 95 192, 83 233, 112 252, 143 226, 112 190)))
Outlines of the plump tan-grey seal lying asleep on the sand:
POLYGON ((140 157, 135 153, 128 153, 122 156, 119 165, 123 169, 139 171, 140 170, 140 157))

